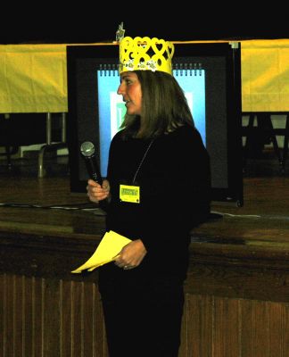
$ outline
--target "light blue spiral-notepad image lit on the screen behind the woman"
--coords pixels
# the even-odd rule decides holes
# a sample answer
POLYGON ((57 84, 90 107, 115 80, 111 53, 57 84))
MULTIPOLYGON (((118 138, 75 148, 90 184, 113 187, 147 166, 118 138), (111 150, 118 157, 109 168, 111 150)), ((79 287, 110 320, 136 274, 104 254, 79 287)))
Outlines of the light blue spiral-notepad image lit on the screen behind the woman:
MULTIPOLYGON (((193 114, 194 125, 206 145, 205 71, 174 70, 173 75, 186 94, 187 103, 193 114)), ((126 107, 122 101, 122 95, 117 94, 120 85, 118 71, 97 71, 97 82, 100 168, 102 176, 105 177, 111 138, 120 129, 126 107)))

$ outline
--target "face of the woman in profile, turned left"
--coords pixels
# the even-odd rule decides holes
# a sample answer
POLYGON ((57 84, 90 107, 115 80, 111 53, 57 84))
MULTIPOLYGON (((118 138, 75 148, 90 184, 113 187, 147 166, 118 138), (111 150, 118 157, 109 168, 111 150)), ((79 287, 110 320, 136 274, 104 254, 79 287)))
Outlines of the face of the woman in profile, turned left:
POLYGON ((120 74, 118 95, 122 95, 128 114, 141 115, 142 88, 136 73, 127 71, 120 74))

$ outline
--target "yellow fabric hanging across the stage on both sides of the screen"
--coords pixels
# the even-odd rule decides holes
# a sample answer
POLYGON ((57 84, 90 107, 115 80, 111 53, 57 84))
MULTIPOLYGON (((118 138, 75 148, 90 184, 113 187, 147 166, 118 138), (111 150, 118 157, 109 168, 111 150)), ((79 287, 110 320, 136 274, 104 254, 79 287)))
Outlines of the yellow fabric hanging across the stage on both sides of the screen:
MULTIPOLYGON (((240 42, 242 111, 289 112, 289 39, 240 42)), ((0 45, 0 112, 67 112, 66 46, 0 45)))

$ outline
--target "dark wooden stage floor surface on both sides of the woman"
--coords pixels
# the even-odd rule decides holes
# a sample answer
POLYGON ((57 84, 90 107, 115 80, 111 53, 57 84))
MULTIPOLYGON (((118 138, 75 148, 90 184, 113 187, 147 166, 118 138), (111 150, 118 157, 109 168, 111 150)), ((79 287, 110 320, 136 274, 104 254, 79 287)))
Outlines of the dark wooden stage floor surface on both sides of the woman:
MULTIPOLYGON (((12 222, 20 223, 21 220, 31 220, 31 224, 36 224, 39 219, 46 220, 47 225, 49 222, 53 224, 57 212, 62 212, 63 224, 80 212, 86 224, 88 218, 94 224, 95 215, 101 212, 88 202, 85 193, 70 193, 68 158, 52 158, 46 163, 46 169, 46 176, 38 179, 35 159, 14 160, 10 170, 4 160, 0 161, 0 229, 7 227, 9 220, 12 220, 11 228, 12 222)), ((223 217, 220 220, 226 218, 226 222, 212 220, 197 228, 197 234, 232 238, 244 235, 245 231, 248 237, 258 235, 258 232, 261 232, 261 237, 268 237, 270 229, 273 229, 276 239, 276 229, 280 229, 277 237, 288 239, 289 244, 288 172, 285 175, 279 173, 274 156, 249 161, 244 173, 244 206, 212 203, 211 212, 219 213, 223 217)), ((82 221, 78 220, 78 225, 81 224, 82 221)))

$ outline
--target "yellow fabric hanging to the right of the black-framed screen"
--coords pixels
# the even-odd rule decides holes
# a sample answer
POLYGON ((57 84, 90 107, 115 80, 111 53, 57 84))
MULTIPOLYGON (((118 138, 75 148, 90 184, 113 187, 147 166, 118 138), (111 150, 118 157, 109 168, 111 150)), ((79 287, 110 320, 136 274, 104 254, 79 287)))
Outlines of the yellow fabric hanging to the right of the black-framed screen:
POLYGON ((289 39, 241 42, 242 111, 289 112, 289 39))

